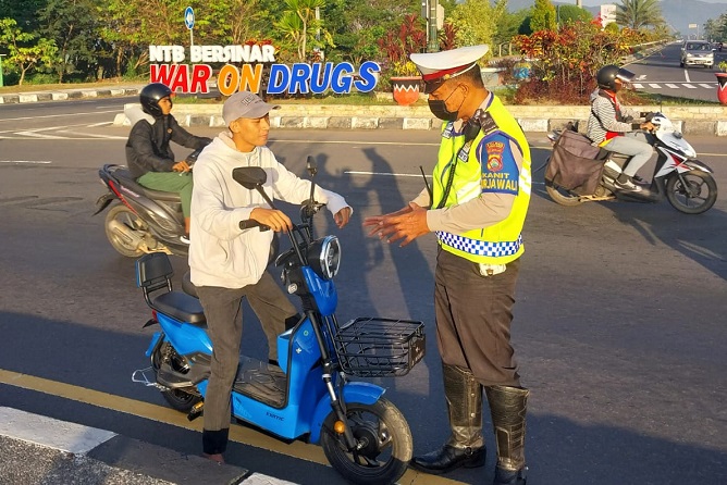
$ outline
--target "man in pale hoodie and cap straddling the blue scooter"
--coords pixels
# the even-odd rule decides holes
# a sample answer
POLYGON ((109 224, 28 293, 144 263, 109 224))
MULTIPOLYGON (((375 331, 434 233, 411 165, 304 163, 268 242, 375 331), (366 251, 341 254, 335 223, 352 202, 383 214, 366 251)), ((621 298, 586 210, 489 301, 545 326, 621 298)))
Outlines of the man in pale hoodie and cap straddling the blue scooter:
MULTIPOLYGON (((297 310, 266 271, 272 231, 292 228, 289 217, 270 208, 256 190, 232 178, 233 169, 260 166, 268 179, 264 189, 272 199, 300 203, 310 195, 309 181, 298 178, 278 162, 266 146, 270 132, 268 104, 257 95, 239 91, 222 109, 227 130, 200 153, 194 170, 189 269, 205 309, 212 340, 211 374, 205 396, 204 456, 224 462, 230 431, 232 393, 243 335, 241 303, 247 297, 268 337, 269 356, 275 359, 278 334, 297 310), (239 222, 255 220, 271 231, 241 229, 239 222)), ((325 203, 338 227, 345 226, 353 209, 340 195, 316 187, 316 200, 325 203)))

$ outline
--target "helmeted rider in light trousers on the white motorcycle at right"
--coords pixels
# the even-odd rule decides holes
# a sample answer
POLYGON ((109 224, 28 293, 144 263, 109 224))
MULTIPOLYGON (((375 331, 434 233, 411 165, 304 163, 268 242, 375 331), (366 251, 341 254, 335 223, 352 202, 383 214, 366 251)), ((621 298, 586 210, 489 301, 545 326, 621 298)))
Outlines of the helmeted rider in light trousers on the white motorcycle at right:
POLYGON ((642 130, 651 132, 654 125, 650 121, 634 123, 633 120, 640 117, 639 113, 621 105, 618 100, 617 92, 631 79, 633 73, 617 65, 609 64, 599 70, 595 75, 599 88, 591 94, 587 135, 593 145, 632 157, 615 185, 624 191, 639 192, 644 190, 640 187, 644 181, 636 173, 654 152, 648 135, 642 130))

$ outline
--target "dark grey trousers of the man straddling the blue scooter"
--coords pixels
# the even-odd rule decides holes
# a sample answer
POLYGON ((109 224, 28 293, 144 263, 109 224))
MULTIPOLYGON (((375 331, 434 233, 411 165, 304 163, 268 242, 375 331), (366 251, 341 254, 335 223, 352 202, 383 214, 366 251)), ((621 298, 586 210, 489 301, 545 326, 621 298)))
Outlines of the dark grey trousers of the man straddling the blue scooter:
MULTIPOLYGON (((255 285, 244 288, 197 287, 199 301, 205 309, 207 327, 212 340, 212 364, 205 396, 205 431, 230 427, 230 396, 239 363, 239 346, 243 337, 242 300, 248 302, 258 315, 268 337, 269 357, 275 359, 276 337, 285 331, 285 320, 297 313, 287 296, 275 284, 270 273, 262 274, 255 285)), ((226 434, 225 434, 226 442, 226 434)), ((207 453, 224 451, 205 450, 207 453)))

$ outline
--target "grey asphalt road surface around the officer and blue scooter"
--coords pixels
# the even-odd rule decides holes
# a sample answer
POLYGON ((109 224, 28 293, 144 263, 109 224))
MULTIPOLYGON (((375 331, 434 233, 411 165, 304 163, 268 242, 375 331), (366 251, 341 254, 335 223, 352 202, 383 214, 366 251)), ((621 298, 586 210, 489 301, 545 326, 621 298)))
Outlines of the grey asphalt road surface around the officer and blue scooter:
MULTIPOLYGON (((123 102, 39 103, 30 116, 0 107, 0 406, 194 455, 199 420, 186 423, 156 390, 131 382, 147 365, 151 332, 141 325, 149 312, 133 261, 106 241, 102 215, 90 215, 103 192, 97 169, 124 161, 128 128, 109 125, 123 102), (9 377, 16 374, 38 378, 24 388, 9 377)), ((549 145, 543 134, 529 139, 538 167, 549 145)), ((727 187, 724 141, 690 141, 727 187)), ((436 142, 435 133, 398 130, 278 130, 270 142, 299 174, 306 156, 317 157, 318 182, 356 209, 343 231, 331 229, 330 217, 319 227, 343 245, 340 318, 427 323, 424 361, 405 377, 374 381, 407 418, 416 453, 447 437, 432 320, 435 241, 426 236, 391 247, 365 237, 360 222, 399 209, 420 190, 419 166, 431 167, 436 142)), ((532 391, 529 482, 727 482, 726 213, 724 198, 699 216, 666 202, 563 208, 547 199, 535 173, 513 328, 532 391)), ((186 263, 174 264, 178 278, 186 263)), ((259 326, 246 315, 243 350, 264 356, 259 326)), ((231 463, 301 484, 342 483, 317 447, 239 426, 233 439, 231 463)), ((486 469, 448 478, 489 483, 493 467, 490 453, 486 469)))

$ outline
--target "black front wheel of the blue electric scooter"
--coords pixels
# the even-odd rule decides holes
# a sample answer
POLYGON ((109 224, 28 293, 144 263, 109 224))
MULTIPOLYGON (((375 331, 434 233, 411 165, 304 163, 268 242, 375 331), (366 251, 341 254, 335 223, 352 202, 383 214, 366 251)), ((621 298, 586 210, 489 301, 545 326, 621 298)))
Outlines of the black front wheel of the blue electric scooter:
POLYGON ((401 478, 414 448, 411 432, 402 412, 381 398, 373 405, 347 402, 346 418, 358 448, 346 448, 343 435, 334 431, 337 418, 331 411, 321 434, 321 446, 331 465, 355 484, 393 484, 401 478))

